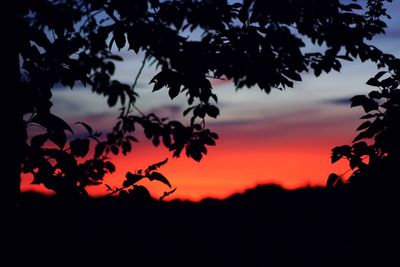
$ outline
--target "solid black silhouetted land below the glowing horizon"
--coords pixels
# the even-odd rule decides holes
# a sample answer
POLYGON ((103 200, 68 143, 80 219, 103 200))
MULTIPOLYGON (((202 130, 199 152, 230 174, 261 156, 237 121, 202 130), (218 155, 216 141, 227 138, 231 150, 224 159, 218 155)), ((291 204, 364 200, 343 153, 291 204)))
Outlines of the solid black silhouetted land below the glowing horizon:
POLYGON ((261 186, 201 203, 66 205, 26 193, 9 266, 400 266, 395 199, 261 186))

